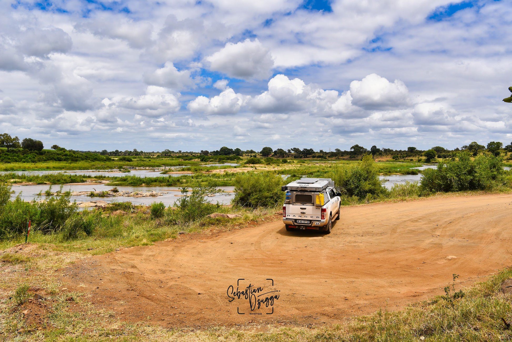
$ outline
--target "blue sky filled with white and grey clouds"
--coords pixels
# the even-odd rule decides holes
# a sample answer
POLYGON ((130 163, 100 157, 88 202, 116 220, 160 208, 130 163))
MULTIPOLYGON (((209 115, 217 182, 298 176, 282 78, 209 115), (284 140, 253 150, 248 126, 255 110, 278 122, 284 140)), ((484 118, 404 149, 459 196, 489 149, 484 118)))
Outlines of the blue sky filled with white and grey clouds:
POLYGON ((0 0, 0 133, 73 149, 512 140, 508 0, 0 0))

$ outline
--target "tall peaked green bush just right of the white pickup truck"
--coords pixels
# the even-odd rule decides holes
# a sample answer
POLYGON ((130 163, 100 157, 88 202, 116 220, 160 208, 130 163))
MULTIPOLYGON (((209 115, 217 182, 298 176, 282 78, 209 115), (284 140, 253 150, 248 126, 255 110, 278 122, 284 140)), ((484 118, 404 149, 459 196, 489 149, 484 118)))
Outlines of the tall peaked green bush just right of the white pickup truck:
POLYGON ((330 175, 336 190, 346 197, 368 200, 386 195, 371 155, 362 158, 357 166, 337 165, 330 175))

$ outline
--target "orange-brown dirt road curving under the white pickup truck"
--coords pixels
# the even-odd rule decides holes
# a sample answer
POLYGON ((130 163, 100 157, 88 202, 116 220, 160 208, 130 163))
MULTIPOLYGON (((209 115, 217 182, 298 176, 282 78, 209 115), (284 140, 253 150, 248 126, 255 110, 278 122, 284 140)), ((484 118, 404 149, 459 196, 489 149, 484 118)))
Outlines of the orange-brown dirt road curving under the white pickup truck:
POLYGON ((189 234, 90 258, 64 281, 132 322, 321 324, 442 294, 452 273, 460 274, 459 287, 512 264, 510 195, 342 209, 329 235, 287 232, 281 221, 189 234), (251 311, 243 294, 228 301, 239 279, 240 291, 249 283, 259 290, 251 303, 267 298, 260 309, 251 311))

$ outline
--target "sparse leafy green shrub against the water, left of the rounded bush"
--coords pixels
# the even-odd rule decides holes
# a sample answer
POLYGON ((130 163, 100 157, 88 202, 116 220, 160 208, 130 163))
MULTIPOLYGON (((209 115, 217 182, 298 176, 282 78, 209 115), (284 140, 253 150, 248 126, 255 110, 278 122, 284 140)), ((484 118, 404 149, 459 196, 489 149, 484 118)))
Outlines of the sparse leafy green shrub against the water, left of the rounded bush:
POLYGON ((182 197, 177 202, 177 209, 169 208, 167 210, 168 221, 171 223, 188 224, 210 215, 220 205, 209 203, 206 197, 220 192, 214 186, 205 187, 200 185, 193 187, 191 192, 185 187, 182 188, 182 197))

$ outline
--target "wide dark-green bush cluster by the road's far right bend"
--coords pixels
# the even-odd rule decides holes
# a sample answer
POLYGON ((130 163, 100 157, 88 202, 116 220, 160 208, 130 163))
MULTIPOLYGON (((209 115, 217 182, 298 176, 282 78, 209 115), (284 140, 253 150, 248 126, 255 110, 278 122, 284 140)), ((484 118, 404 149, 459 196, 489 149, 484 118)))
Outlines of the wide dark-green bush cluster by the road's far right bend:
POLYGON ((480 155, 472 160, 468 152, 461 152, 457 157, 458 160, 439 162, 436 169, 423 170, 421 190, 489 190, 506 183, 501 157, 480 155))

